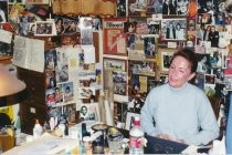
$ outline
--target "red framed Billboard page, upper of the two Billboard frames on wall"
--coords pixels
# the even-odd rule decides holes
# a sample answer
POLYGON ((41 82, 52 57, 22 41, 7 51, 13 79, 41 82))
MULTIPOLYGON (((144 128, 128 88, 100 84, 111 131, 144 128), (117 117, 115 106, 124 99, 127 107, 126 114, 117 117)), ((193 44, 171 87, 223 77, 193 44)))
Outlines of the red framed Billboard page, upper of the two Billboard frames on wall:
POLYGON ((104 54, 127 55, 124 22, 125 19, 104 20, 104 54))

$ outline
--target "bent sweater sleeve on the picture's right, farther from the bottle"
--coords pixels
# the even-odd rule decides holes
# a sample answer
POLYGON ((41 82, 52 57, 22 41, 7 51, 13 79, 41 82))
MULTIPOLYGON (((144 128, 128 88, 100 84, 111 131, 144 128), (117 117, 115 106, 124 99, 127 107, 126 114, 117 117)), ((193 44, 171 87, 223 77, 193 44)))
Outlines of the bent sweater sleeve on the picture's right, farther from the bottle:
POLYGON ((219 136, 219 125, 212 110, 211 103, 207 96, 202 95, 198 106, 198 120, 200 132, 187 137, 187 144, 207 145, 219 136))

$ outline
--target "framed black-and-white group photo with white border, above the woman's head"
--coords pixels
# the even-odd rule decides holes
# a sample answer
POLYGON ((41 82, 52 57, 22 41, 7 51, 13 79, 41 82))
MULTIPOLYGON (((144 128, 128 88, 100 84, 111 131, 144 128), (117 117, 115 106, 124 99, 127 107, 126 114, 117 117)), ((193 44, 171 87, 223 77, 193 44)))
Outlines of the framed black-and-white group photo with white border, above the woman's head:
POLYGON ((167 18, 161 20, 162 40, 186 41, 187 18, 167 18))

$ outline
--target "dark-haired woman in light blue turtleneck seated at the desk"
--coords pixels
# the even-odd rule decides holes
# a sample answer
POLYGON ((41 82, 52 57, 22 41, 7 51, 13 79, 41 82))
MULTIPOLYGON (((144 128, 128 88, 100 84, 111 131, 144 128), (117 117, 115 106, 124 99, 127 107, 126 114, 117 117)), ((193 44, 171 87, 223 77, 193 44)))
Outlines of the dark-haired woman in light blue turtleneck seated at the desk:
POLYGON ((219 136, 210 101, 202 90, 189 83, 197 65, 191 50, 173 54, 168 83, 154 87, 141 108, 145 133, 189 145, 207 145, 219 136))

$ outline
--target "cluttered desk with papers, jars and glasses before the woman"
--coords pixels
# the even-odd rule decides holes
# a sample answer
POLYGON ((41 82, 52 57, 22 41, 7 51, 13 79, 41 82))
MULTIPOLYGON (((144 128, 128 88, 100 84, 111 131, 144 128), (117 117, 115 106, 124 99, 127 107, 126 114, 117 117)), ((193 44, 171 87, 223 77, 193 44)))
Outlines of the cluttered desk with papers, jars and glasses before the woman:
MULTIPOLYGON (((20 146, 3 154, 128 154, 130 145, 129 131, 94 121, 84 121, 71 126, 67 136, 61 137, 45 132, 38 138, 29 137, 32 135, 28 135, 20 146), (30 142, 27 142, 29 140, 30 142)), ((208 153, 211 148, 189 146, 148 135, 145 135, 145 142, 143 154, 198 154, 199 151, 208 153)))

